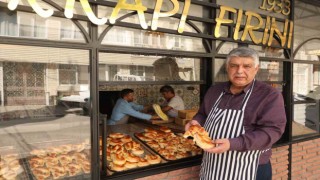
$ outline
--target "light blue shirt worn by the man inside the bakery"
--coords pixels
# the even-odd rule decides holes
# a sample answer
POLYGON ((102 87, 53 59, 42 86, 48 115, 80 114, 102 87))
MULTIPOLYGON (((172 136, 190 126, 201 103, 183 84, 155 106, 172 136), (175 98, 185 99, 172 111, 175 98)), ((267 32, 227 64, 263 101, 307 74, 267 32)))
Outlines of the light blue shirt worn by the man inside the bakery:
POLYGON ((150 114, 142 113, 140 112, 141 110, 143 110, 143 105, 139 105, 133 102, 129 103, 128 101, 119 98, 112 110, 112 115, 111 118, 108 120, 108 124, 114 125, 117 121, 119 121, 126 115, 145 120, 151 119, 150 114))

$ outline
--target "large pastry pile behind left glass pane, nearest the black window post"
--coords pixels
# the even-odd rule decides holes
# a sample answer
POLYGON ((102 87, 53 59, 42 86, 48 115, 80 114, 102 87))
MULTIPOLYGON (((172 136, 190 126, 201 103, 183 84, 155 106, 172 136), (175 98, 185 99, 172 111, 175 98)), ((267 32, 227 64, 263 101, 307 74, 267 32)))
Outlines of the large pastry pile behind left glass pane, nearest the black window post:
POLYGON ((86 143, 65 144, 56 147, 34 149, 29 166, 36 179, 59 179, 90 173, 89 151, 86 143))

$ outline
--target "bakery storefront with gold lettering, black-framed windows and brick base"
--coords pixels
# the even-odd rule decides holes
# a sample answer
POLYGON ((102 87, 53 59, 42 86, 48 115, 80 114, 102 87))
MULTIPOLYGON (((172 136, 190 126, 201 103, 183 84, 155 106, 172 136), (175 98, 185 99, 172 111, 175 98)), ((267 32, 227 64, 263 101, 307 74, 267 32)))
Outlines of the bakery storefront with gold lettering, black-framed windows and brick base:
POLYGON ((319 179, 319 27, 318 0, 0 0, 0 179, 198 179, 201 149, 180 136, 190 114, 105 122, 124 88, 161 104, 169 84, 198 109, 238 46, 285 101, 273 178, 319 179), (153 129, 171 143, 148 143, 153 129))

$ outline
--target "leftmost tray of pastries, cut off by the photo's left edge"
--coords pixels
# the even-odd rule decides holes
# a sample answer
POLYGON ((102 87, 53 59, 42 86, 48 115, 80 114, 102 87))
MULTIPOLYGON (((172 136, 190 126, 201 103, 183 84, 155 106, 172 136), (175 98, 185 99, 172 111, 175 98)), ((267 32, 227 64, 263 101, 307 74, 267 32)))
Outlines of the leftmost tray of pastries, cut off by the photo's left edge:
POLYGON ((18 151, 13 146, 0 147, 0 179, 26 179, 18 151))

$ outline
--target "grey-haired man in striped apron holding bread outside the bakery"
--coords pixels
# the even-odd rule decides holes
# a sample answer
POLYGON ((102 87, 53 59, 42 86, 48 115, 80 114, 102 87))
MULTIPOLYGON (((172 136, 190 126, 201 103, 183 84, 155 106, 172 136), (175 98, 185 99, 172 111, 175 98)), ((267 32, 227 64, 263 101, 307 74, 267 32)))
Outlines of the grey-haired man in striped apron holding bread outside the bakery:
POLYGON ((201 134, 213 144, 203 141, 200 179, 272 179, 271 148, 284 132, 286 114, 281 93, 255 80, 258 69, 255 50, 232 50, 226 60, 229 81, 213 85, 186 124, 187 135, 202 126, 207 133, 201 134))

